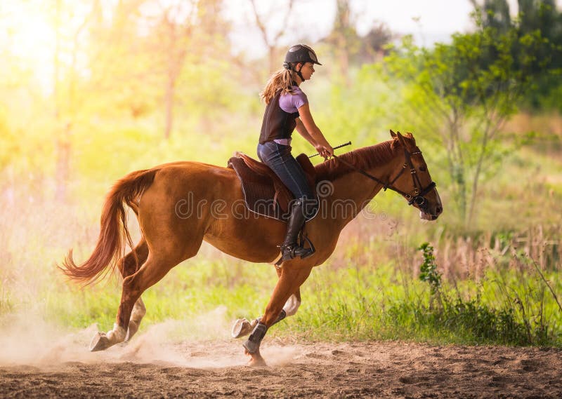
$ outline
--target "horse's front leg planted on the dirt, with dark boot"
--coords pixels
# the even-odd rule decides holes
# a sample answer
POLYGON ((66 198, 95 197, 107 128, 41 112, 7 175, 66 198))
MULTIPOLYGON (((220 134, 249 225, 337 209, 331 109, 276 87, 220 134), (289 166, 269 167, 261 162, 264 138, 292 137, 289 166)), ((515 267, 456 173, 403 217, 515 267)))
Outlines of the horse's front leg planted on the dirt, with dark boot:
POLYGON ((259 352, 261 340, 265 337, 268 328, 277 323, 280 317, 283 317, 283 306, 310 276, 311 270, 311 266, 297 267, 296 264, 293 265, 289 262, 282 267, 281 276, 277 280, 277 285, 275 285, 275 290, 273 290, 265 313, 263 313, 261 320, 256 324, 248 339, 244 341, 245 352, 251 356, 249 365, 266 364, 259 352))

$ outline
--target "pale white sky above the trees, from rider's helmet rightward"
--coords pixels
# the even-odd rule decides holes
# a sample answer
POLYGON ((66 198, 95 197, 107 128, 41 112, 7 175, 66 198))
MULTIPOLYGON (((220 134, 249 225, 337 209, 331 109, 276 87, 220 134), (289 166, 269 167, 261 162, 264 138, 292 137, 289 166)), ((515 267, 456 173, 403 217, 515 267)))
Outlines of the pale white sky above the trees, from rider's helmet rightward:
MULTIPOLYGON (((296 39, 310 43, 327 36, 336 15, 335 0, 295 0, 289 29, 280 43, 290 46, 296 39), (300 37, 299 37, 300 36, 300 37)), ((288 0, 256 0, 256 8, 268 27, 279 32, 288 0), (279 5, 285 5, 280 7, 279 5)), ((509 0, 516 11, 517 0, 509 0)), ((261 55, 265 46, 261 34, 253 28, 254 16, 249 0, 229 0, 225 16, 235 25, 233 41, 247 53, 261 55), (253 43, 249 48, 247 43, 253 43)), ((431 46, 436 41, 447 41, 454 32, 471 29, 469 0, 351 0, 351 18, 358 33, 365 34, 374 22, 384 22, 396 34, 412 34, 420 46, 431 46)))

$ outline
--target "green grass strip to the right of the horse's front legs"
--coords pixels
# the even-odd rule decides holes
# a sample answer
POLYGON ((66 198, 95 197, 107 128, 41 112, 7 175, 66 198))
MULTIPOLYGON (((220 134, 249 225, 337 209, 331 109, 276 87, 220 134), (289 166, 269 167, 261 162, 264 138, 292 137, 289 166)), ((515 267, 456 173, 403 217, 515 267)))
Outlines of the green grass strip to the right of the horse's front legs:
MULTIPOLYGON (((455 288, 443 285, 441 299, 433 302, 426 283, 405 278, 400 284, 390 277, 396 273, 392 265, 377 271, 328 270, 321 277, 320 269, 316 273, 311 287, 303 290, 305 299, 295 322, 288 322, 282 330, 329 340, 562 344, 562 312, 532 272, 518 276, 528 279, 525 284, 515 278, 507 280, 511 272, 505 271, 488 273, 478 286, 467 281, 455 288), (320 281, 314 279, 317 276, 320 281), (524 298, 525 313, 518 298, 524 298)), ((549 277, 557 281, 559 274, 549 277)), ((562 287, 558 284, 556 288, 562 287)))

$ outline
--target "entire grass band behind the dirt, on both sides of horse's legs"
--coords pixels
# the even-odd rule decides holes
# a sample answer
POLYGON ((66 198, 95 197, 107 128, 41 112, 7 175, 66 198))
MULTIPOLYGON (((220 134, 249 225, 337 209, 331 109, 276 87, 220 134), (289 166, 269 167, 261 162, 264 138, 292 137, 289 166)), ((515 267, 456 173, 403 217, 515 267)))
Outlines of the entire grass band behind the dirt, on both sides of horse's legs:
MULTIPOLYGON (((544 277, 562 292, 558 271, 544 277)), ((189 324, 224 308, 216 317, 223 318, 218 325, 225 331, 213 333, 226 336, 235 318, 261 314, 276 280, 273 266, 216 254, 185 262, 143 295, 148 313, 141 332, 166 320, 189 324)), ((34 311, 62 327, 112 327, 120 297, 117 278, 80 289, 59 273, 46 273, 34 287, 34 295, 24 296, 6 295, 4 288, 3 316, 34 311)), ((432 290, 393 261, 350 260, 346 267, 327 262, 313 271, 301 292, 299 312, 275 325, 270 337, 562 346, 562 312, 530 264, 518 271, 488 271, 478 283, 445 281, 432 290)))

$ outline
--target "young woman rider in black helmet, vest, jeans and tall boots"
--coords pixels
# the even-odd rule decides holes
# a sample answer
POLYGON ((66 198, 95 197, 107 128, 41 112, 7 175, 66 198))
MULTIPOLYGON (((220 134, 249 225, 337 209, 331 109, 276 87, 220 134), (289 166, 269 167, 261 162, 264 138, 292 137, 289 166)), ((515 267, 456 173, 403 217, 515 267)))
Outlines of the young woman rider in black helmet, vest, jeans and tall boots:
POLYGON ((312 188, 306 181, 301 165, 291 154, 291 135, 296 128, 324 158, 332 156, 334 149, 314 123, 308 98, 299 87, 311 79, 318 62, 314 50, 304 44, 292 46, 285 55, 283 69, 275 72, 260 93, 266 102, 258 156, 292 191, 295 200, 290 209, 287 234, 281 245, 282 259, 308 257, 313 251, 296 243, 299 231, 307 217, 315 211, 312 188))

